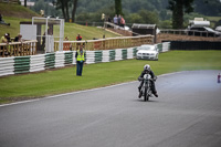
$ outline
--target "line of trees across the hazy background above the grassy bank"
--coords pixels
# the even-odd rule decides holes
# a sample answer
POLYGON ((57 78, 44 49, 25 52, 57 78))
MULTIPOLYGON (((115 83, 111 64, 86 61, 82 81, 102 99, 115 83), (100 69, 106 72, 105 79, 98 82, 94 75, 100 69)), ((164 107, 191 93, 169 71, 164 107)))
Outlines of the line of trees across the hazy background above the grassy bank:
POLYGON ((101 21, 101 14, 113 18, 124 15, 127 23, 156 23, 181 29, 188 13, 196 15, 221 15, 219 0, 32 0, 32 8, 45 10, 48 15, 60 15, 65 21, 101 21), (48 6, 52 2, 54 6, 48 6), (42 4, 40 4, 42 3, 42 4))

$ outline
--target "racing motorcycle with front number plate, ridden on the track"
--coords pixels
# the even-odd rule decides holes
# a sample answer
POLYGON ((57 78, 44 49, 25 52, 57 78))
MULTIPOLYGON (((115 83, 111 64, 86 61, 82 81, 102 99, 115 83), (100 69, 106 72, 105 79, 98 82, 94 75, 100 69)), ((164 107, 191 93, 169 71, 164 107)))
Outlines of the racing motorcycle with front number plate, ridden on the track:
POLYGON ((156 81, 157 77, 155 77, 154 80, 151 78, 151 76, 149 74, 145 74, 144 78, 139 78, 139 81, 144 80, 144 84, 143 87, 140 90, 140 96, 144 96, 144 101, 149 101, 149 97, 152 97, 152 82, 156 81))

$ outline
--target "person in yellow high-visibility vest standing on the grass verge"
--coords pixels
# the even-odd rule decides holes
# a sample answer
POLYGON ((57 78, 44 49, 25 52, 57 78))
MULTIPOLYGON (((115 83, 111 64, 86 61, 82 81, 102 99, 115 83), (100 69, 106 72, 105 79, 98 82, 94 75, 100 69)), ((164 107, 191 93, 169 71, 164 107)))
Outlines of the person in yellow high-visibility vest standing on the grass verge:
POLYGON ((86 53, 83 50, 83 45, 80 46, 80 50, 76 51, 75 59, 76 59, 76 76, 82 76, 83 65, 85 62, 86 53))

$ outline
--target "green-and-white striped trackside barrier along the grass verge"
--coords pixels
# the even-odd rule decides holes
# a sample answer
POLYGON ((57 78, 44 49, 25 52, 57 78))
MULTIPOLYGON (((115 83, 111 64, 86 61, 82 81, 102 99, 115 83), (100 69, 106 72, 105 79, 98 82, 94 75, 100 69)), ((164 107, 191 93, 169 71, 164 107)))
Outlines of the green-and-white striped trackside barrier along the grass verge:
MULTIPOLYGON (((158 44, 160 52, 169 50, 169 43, 158 44)), ((137 48, 86 51, 86 63, 120 61, 136 57, 137 48)), ((0 76, 39 72, 76 64, 76 51, 62 51, 30 56, 0 57, 0 76)))

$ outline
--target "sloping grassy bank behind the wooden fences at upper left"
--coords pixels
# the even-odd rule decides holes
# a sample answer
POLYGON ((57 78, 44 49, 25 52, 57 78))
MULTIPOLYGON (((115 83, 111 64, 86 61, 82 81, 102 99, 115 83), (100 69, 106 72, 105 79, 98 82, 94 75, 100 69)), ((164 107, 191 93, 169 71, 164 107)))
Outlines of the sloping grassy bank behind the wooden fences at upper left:
MULTIPOLYGON (((32 17, 39 17, 38 13, 31 11, 19 4, 8 4, 0 3, 0 13, 3 14, 3 20, 10 25, 0 24, 0 38, 4 35, 4 33, 10 33, 11 38, 14 38, 20 33, 20 22, 21 21, 32 21, 32 17), (11 11, 13 10, 13 11, 11 11)), ((44 33, 45 27, 42 25, 42 34, 44 33)), ((64 25, 64 36, 69 36, 70 41, 76 40, 76 35, 81 34, 83 40, 93 40, 102 39, 103 34, 106 38, 115 38, 116 34, 104 31, 103 29, 98 29, 96 27, 85 27, 78 25, 75 23, 65 22, 64 25)), ((54 25, 54 35, 59 36, 59 25, 54 25)), ((55 38, 57 40, 57 38, 55 38)))

